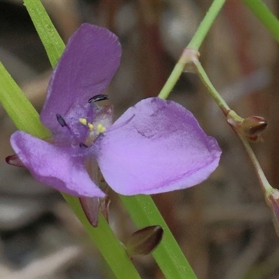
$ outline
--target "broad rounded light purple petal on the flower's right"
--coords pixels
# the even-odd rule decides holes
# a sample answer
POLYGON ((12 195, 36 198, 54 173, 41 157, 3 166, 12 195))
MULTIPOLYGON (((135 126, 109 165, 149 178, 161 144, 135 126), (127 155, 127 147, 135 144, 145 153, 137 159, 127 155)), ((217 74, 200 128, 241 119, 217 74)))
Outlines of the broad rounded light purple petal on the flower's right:
POLYGON ((95 146, 105 180, 122 195, 194 186, 216 169, 221 154, 191 112, 160 98, 130 107, 95 146))

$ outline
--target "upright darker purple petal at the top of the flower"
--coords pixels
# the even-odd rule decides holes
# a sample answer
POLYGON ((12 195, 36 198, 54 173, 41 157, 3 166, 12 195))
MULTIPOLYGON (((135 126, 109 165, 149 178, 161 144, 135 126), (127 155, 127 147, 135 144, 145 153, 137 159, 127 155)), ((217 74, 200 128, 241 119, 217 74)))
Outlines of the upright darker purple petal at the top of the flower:
POLYGON ((102 93, 119 67, 120 58, 121 45, 114 33, 82 24, 68 40, 52 73, 40 114, 45 126, 54 132, 59 128, 56 114, 65 117, 73 110, 79 111, 89 98, 102 93))

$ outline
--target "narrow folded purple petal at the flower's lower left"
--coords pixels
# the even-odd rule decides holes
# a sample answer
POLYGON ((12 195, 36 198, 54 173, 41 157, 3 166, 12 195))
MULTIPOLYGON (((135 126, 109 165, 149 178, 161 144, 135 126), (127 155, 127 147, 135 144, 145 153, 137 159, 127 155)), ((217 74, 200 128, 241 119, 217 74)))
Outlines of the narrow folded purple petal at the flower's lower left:
POLYGON ((73 156, 73 148, 54 146, 22 131, 15 132, 10 143, 38 181, 78 197, 105 197, 91 181, 82 157, 73 156))

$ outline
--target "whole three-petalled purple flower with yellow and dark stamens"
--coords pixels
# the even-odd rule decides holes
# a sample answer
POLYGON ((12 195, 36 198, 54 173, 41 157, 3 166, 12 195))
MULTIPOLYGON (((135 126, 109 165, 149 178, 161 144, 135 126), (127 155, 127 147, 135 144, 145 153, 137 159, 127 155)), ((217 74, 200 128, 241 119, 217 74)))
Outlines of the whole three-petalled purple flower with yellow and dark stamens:
POLYGON ((40 119, 52 140, 22 131, 10 142, 40 182, 77 197, 105 197, 84 162, 96 160, 105 181, 122 195, 188 188, 218 166, 220 148, 179 104, 148 98, 112 124, 112 107, 100 105, 119 67, 118 38, 82 24, 70 38, 47 89, 40 119))

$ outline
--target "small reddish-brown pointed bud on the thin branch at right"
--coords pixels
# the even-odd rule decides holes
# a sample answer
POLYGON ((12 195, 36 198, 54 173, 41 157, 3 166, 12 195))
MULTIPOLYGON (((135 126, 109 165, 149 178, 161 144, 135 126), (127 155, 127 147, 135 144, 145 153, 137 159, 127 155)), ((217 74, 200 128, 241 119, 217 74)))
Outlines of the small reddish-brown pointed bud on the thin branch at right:
POLYGON ((266 119, 261 116, 249 116, 241 123, 241 130, 248 140, 255 141, 259 138, 259 134, 266 129, 266 119))

